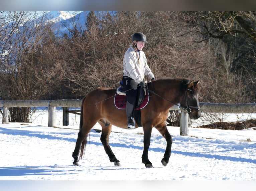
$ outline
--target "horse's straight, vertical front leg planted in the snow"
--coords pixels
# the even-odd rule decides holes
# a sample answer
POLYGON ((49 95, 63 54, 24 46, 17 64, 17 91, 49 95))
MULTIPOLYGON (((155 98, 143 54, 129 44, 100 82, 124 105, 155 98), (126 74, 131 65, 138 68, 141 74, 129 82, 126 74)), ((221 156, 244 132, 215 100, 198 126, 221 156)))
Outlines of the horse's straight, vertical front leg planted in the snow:
POLYGON ((149 161, 148 159, 148 149, 150 146, 150 137, 151 137, 151 133, 152 133, 152 126, 150 125, 143 125, 143 131, 144 131, 144 149, 143 149, 143 153, 142 153, 142 162, 145 164, 145 166, 147 168, 152 168, 153 165, 152 163, 149 161))

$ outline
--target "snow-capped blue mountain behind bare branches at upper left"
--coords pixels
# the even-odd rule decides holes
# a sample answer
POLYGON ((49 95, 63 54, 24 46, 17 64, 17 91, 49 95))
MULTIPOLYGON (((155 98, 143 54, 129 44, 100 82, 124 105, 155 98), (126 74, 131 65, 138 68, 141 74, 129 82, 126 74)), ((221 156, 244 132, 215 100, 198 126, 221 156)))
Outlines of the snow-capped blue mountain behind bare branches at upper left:
MULTIPOLYGON (((0 42, 0 55, 7 56, 11 52, 10 49, 12 53, 16 52, 14 50, 16 46, 10 44, 24 43, 21 39, 18 41, 14 40, 18 34, 23 35, 24 39, 27 39, 27 42, 32 42, 34 38, 31 34, 35 31, 36 27, 41 24, 41 21, 52 23, 52 30, 58 37, 64 34, 68 34, 68 36, 71 37, 72 34, 70 31, 72 31, 75 26, 78 31, 84 31, 86 29, 86 20, 89 11, 73 11, 72 13, 67 11, 38 11, 39 17, 35 19, 35 15, 31 12, 31 17, 23 17, 22 21, 18 24, 18 28, 15 30, 13 30, 16 25, 15 20, 6 18, 6 24, 1 26, 2 34, 0 34, 0 36, 2 35, 2 38, 0 42), (27 30, 27 32, 24 32, 25 30, 27 30), (8 34, 11 34, 11 38, 8 34)), ((30 16, 30 14, 27 15, 30 16)))

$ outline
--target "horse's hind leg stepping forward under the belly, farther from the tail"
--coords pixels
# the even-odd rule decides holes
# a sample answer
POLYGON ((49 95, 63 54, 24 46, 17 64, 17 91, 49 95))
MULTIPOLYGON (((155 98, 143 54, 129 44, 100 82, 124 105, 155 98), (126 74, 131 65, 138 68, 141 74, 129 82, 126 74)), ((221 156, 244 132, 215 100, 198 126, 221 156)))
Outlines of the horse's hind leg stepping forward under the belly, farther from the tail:
POLYGON ((120 161, 116 158, 113 151, 111 150, 109 146, 109 135, 112 130, 112 124, 104 122, 103 120, 99 121, 100 125, 102 126, 102 132, 101 132, 101 142, 104 146, 104 149, 109 156, 110 162, 114 162, 115 166, 120 166, 120 161))

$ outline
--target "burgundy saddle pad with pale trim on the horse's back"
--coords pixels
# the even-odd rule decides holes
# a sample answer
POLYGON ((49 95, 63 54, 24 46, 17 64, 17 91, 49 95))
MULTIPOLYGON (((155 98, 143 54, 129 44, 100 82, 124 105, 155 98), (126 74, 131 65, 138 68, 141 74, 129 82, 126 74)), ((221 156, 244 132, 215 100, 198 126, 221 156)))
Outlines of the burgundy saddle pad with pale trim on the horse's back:
MULTIPOLYGON (((147 93, 145 95, 145 98, 143 99, 143 101, 141 102, 139 107, 135 108, 134 110, 142 109, 148 104, 149 96, 148 96, 148 91, 146 91, 146 92, 147 93)), ((116 93, 115 97, 114 97, 114 103, 115 103, 116 108, 126 109, 126 95, 119 95, 119 94, 116 93)))

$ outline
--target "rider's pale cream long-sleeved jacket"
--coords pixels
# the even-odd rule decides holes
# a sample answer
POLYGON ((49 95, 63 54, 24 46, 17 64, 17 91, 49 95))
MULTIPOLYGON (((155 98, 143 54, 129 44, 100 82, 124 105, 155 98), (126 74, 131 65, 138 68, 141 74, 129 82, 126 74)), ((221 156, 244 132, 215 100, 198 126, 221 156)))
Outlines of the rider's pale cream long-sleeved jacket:
POLYGON ((154 74, 151 72, 149 66, 147 65, 147 59, 145 53, 140 51, 140 66, 138 65, 138 58, 136 52, 132 46, 130 46, 124 54, 124 76, 132 78, 138 84, 143 81, 146 75, 148 80, 155 78, 154 74))

